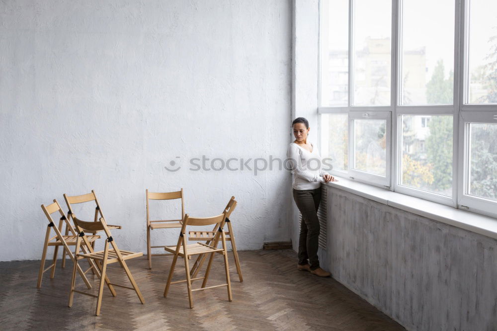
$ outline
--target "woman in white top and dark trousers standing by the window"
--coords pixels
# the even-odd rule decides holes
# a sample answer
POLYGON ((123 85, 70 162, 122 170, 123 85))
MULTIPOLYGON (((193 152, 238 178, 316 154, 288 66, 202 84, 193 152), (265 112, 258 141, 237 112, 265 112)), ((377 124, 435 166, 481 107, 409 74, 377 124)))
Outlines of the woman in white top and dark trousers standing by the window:
POLYGON ((292 122, 292 127, 295 141, 288 147, 287 157, 294 173, 293 199, 302 214, 297 268, 310 271, 320 277, 330 277, 331 274, 319 266, 317 211, 321 201, 321 183, 336 181, 336 179, 322 170, 318 150, 307 141, 309 122, 299 117, 292 122), (311 159, 314 159, 314 162, 309 163, 311 159), (316 168, 317 160, 319 160, 319 167, 316 168))

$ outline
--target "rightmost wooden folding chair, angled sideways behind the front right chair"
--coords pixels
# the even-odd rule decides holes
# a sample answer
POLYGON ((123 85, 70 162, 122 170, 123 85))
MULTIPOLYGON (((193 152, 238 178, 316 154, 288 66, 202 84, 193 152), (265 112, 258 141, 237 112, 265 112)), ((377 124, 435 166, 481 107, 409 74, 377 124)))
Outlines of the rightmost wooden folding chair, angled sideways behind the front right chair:
MULTIPOLYGON (((240 267, 240 259, 238 257, 237 244, 235 243, 235 234, 233 233, 232 222, 229 218, 236 206, 237 206, 237 201, 235 200, 235 197, 232 196, 230 201, 224 208, 224 212, 226 213, 226 220, 225 223, 221 224, 221 228, 224 228, 224 224, 228 224, 228 232, 226 232, 226 241, 231 241, 231 248, 233 250, 233 256, 235 257, 235 265, 237 267, 238 278, 240 279, 240 282, 243 282, 244 278, 242 276, 242 268, 240 267)), ((217 243, 214 243, 214 239, 217 234, 216 231, 217 227, 218 226, 216 225, 212 231, 190 231, 189 240, 205 241, 207 245, 218 247, 219 238, 217 239, 217 243)), ((206 257, 207 255, 205 254, 199 255, 197 257, 190 271, 190 275, 192 277, 197 276, 198 271, 202 267, 202 264, 204 263, 206 257)))

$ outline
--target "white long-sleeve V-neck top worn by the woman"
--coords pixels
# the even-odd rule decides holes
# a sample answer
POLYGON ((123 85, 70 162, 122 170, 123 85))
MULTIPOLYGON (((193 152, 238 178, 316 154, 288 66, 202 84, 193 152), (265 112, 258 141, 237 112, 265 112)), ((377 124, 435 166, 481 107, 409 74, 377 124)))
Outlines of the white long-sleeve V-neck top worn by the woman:
POLYGON ((292 187, 296 190, 313 190, 318 188, 321 186, 321 183, 325 182, 323 176, 328 174, 322 168, 318 149, 312 143, 311 146, 312 152, 300 147, 296 143, 291 143, 288 146, 286 156, 288 157, 290 169, 294 174, 292 187), (317 160, 312 161, 310 163, 311 168, 309 168, 308 162, 311 159, 319 160, 319 168, 317 160))

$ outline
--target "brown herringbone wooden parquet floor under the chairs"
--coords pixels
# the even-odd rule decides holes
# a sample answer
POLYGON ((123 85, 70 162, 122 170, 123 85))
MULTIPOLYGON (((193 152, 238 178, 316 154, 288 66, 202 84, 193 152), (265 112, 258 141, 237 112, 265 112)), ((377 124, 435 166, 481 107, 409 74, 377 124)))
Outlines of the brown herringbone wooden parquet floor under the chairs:
MULTIPOLYGON (((154 257, 149 270, 143 256, 129 260, 128 266, 145 305, 134 291, 116 287, 114 298, 105 288, 98 317, 91 297, 75 293, 73 307, 67 306, 71 261, 65 269, 59 261, 52 280, 46 272, 39 290, 39 261, 0 262, 0 330, 404 330, 334 279, 297 270, 291 250, 241 251, 243 283, 232 257, 230 253, 233 302, 221 287, 193 292, 194 307, 189 309, 185 283, 171 285, 164 298, 172 258, 154 257)), ((213 266, 207 286, 224 282, 220 255, 213 266)), ((108 274, 111 282, 127 284, 118 263, 108 267, 108 274)), ((181 258, 174 276, 184 278, 181 258)), ((79 276, 77 284, 85 289, 79 276)), ((91 291, 96 291, 94 284, 91 291)))

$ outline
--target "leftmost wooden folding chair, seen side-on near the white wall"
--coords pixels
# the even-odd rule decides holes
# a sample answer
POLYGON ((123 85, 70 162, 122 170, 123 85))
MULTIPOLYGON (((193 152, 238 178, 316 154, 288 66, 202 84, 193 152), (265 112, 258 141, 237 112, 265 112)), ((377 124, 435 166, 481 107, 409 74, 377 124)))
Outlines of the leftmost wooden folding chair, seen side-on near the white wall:
MULTIPOLYGON (((46 231, 46 235, 45 235, 45 242, 43 244, 43 253, 41 255, 40 271, 38 272, 38 282, 36 284, 37 288, 41 287, 43 273, 45 271, 47 271, 48 269, 50 269, 50 268, 52 269, 52 272, 50 274, 50 278, 51 279, 54 278, 55 265, 57 263, 57 253, 59 251, 59 246, 63 246, 64 251, 67 252, 67 254, 71 258, 71 260, 74 261, 74 255, 71 252, 71 249, 69 248, 69 246, 76 246, 76 241, 77 241, 77 233, 74 231, 71 223, 69 223, 69 220, 64 215, 64 212, 62 211, 62 208, 56 199, 54 199, 54 202, 48 206, 41 205, 41 209, 43 210, 43 212, 47 216, 49 223, 48 223, 47 231, 46 231), (56 212, 59 212, 59 214, 61 215, 61 218, 59 220, 59 226, 56 226, 54 224, 54 220, 52 219, 52 216, 51 216, 51 214, 56 213, 56 212), (62 229, 63 229, 64 225, 66 226, 66 233, 68 233, 70 231, 71 235, 66 235, 66 236, 62 235, 62 229), (55 236, 50 237, 52 229, 55 231, 55 236), (49 246, 55 247, 54 248, 54 257, 53 257, 52 264, 48 268, 44 269, 45 258, 47 256, 47 250, 48 250, 49 246)), ((85 246, 84 248, 85 249, 88 249, 88 247, 91 248, 91 245, 89 245, 89 243, 93 243, 98 238, 100 238, 100 236, 87 236, 86 237, 87 241, 84 244, 85 245, 88 244, 88 246, 85 246)), ((65 256, 64 256, 64 258, 65 258, 65 256)), ((95 267, 96 267, 96 265, 90 263, 90 269, 95 268, 95 267)), ((86 272, 88 272, 90 269, 83 272, 81 267, 78 266, 78 272, 80 273, 81 278, 83 278, 84 284, 86 284, 86 287, 88 289, 91 288, 91 285, 88 282, 88 279, 86 278, 86 276, 84 274, 86 272)))

